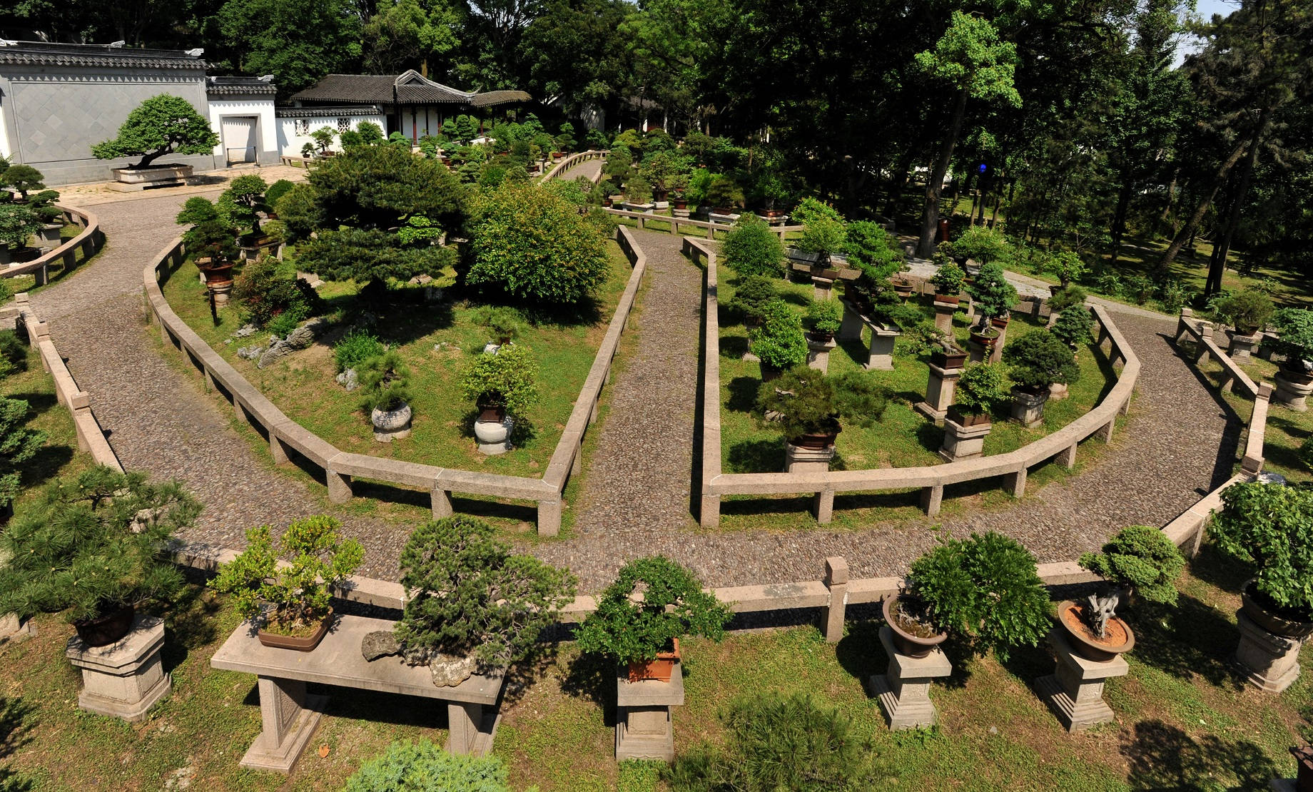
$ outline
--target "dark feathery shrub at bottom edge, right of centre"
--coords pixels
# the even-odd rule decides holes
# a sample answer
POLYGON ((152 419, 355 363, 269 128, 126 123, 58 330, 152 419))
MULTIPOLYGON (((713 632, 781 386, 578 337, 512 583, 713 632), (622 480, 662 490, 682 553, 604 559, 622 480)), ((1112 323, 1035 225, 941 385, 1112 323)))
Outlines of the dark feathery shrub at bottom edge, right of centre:
POLYGON ((723 746, 679 754, 666 774, 675 792, 863 792, 880 787, 852 721, 809 693, 735 699, 721 716, 723 746))

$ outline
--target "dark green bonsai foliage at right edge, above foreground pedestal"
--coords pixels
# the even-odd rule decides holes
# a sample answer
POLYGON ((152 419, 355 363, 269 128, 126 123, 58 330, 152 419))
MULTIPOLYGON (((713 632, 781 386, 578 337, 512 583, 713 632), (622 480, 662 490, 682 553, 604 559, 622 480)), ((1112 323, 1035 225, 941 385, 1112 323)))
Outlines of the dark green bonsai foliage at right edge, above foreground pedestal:
POLYGON ((1292 621, 1313 621, 1313 490, 1237 483, 1222 490, 1222 503, 1208 536, 1254 566, 1250 596, 1292 621))

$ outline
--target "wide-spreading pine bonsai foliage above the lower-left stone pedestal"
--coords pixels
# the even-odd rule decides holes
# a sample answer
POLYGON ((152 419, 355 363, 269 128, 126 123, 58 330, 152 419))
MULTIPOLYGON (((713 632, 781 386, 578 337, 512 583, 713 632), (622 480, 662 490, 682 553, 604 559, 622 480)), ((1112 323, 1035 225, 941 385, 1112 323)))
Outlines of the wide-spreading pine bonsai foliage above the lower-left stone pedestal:
POLYGON ((169 542, 200 511, 181 485, 143 473, 98 466, 55 481, 0 535, 0 611, 76 620, 168 604, 183 584, 169 542))

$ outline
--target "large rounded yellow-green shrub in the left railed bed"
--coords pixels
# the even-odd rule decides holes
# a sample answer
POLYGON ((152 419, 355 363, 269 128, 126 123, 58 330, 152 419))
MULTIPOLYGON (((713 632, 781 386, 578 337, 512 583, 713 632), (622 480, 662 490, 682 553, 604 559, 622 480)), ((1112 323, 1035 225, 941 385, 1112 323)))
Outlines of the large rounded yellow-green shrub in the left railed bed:
POLYGON ((611 260, 597 227, 565 200, 507 183, 475 201, 469 285, 534 303, 570 305, 607 280, 611 260))

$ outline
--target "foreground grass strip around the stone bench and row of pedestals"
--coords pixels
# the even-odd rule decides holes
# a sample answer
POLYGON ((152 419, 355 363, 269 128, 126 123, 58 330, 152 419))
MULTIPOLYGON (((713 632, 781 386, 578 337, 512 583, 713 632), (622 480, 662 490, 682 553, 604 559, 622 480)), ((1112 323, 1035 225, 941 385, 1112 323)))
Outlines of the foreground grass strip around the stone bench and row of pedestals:
MULTIPOLYGON (((1117 720, 1083 734, 1064 732, 1029 690, 1035 676, 1053 670, 1044 649, 1022 649, 999 663, 966 659, 952 645, 953 676, 931 692, 940 725, 892 733, 863 687, 886 666, 880 623, 850 621, 838 645, 825 644, 813 627, 734 633, 718 645, 681 642, 685 704, 674 711, 675 747, 722 741, 718 715, 738 696, 807 692, 851 718, 888 788, 1266 789, 1268 779, 1295 772, 1285 749, 1308 728, 1313 649, 1304 649, 1300 680, 1279 696, 1238 679, 1228 658, 1247 574, 1205 545, 1180 581, 1176 607, 1127 608, 1137 637, 1130 674, 1106 690, 1117 720)), ((79 711, 79 678, 63 658, 71 628, 59 616, 37 621, 35 637, 0 646, 4 760, 35 789, 181 788, 183 779, 192 789, 217 792, 340 789, 393 739, 445 738, 442 708, 323 688, 331 693, 327 717, 290 778, 240 770, 260 713, 252 675, 209 667, 236 625, 222 598, 193 587, 168 617, 164 665, 173 693, 142 724, 79 711)), ((528 672, 527 687, 508 690, 494 753, 509 764, 512 788, 664 788, 651 766, 621 768, 612 758, 608 671, 565 644, 528 672)))

